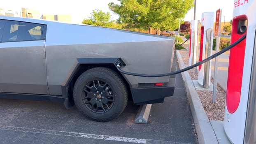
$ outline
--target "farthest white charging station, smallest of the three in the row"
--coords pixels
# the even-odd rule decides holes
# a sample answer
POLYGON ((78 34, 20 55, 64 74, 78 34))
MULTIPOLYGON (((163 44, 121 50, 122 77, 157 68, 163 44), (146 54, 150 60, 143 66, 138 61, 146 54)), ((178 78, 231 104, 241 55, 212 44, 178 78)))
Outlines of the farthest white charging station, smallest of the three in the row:
POLYGON ((190 39, 189 39, 189 66, 196 63, 196 53, 197 53, 197 21, 191 20, 190 22, 190 39))

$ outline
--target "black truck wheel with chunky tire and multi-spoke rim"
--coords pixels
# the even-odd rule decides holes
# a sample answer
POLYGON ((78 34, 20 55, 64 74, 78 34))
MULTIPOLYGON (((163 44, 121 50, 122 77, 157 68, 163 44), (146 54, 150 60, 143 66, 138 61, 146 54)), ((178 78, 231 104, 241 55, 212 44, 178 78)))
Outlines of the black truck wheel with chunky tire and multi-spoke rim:
POLYGON ((87 118, 106 122, 122 113, 128 92, 118 73, 106 67, 95 67, 79 76, 73 96, 75 105, 87 118))

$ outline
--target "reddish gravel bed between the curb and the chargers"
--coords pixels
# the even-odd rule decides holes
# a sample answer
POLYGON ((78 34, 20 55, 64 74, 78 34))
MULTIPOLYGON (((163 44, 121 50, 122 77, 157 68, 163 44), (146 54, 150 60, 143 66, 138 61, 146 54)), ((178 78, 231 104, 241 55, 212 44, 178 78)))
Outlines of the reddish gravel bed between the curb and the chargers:
MULTIPOLYGON (((184 64, 187 66, 189 64, 189 51, 184 49, 179 50, 179 53, 182 56, 184 64)), ((198 74, 195 74, 195 69, 189 70, 189 75, 191 79, 198 79, 198 74)), ((211 82, 213 83, 212 78, 211 82)), ((219 84, 217 84, 217 95, 215 103, 212 102, 212 91, 197 91, 197 93, 199 95, 199 98, 202 102, 202 106, 204 107, 209 120, 223 121, 226 92, 219 86, 219 84)))

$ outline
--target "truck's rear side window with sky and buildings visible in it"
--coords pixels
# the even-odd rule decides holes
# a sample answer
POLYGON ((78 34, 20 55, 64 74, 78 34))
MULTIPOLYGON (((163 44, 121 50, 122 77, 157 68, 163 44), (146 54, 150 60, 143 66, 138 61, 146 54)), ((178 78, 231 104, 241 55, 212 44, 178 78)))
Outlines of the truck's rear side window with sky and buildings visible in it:
POLYGON ((43 27, 37 23, 6 21, 2 42, 42 40, 43 27))

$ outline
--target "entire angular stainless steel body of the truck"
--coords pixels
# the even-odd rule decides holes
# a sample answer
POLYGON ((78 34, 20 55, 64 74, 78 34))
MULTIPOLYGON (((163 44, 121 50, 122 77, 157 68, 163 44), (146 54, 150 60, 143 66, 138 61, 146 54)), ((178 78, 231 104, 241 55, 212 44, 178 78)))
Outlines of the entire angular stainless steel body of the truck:
MULTIPOLYGON (((70 79, 81 65, 78 59, 121 58, 126 63, 123 70, 142 74, 171 71, 175 42, 171 37, 0 16, 0 21, 5 20, 38 23, 47 30, 43 29, 45 40, 0 42, 0 92, 67 98, 70 79)), ((130 89, 140 84, 170 82, 170 76, 123 77, 130 89)))

